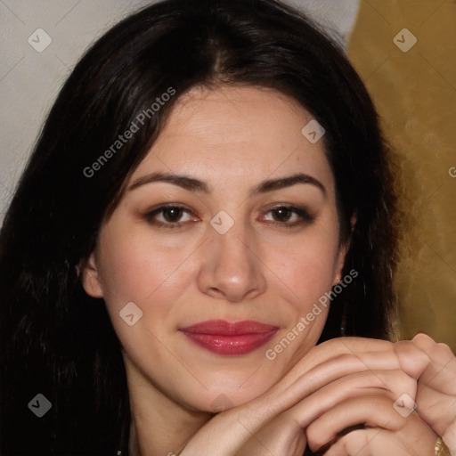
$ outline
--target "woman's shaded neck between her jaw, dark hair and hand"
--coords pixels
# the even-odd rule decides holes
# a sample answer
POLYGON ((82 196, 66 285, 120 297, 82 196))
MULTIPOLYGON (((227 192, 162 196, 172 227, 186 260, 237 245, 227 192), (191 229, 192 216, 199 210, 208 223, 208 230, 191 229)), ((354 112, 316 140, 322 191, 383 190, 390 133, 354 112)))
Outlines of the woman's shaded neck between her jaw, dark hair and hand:
POLYGON ((193 411, 151 384, 124 354, 130 397, 130 456, 173 456, 213 416, 193 411))

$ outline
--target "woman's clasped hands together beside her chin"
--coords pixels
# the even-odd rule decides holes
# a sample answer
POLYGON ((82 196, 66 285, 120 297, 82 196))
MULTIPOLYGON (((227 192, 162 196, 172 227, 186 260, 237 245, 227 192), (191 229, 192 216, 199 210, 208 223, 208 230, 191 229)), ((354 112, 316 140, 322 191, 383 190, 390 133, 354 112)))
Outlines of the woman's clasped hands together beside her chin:
POLYGON ((419 334, 396 343, 335 338, 277 384, 216 414, 181 456, 456 456, 456 358, 419 334))

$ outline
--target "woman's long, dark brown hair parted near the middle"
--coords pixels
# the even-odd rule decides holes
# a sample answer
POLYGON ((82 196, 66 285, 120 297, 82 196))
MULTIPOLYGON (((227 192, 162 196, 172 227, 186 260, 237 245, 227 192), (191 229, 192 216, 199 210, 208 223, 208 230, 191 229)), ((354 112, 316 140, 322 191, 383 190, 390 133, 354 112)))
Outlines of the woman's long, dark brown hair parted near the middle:
POLYGON ((337 184, 343 274, 322 340, 388 338, 394 308, 395 196, 387 148, 362 80, 337 44, 274 0, 167 0, 101 37, 61 89, 0 234, 2 454, 127 454, 130 411, 118 338, 77 265, 179 96, 204 85, 287 94, 325 128, 337 184), (142 110, 175 95, 91 167, 142 110), (100 163, 100 162, 99 162, 100 163), (351 231, 350 218, 357 222, 351 231), (38 393, 52 403, 28 410, 38 393))

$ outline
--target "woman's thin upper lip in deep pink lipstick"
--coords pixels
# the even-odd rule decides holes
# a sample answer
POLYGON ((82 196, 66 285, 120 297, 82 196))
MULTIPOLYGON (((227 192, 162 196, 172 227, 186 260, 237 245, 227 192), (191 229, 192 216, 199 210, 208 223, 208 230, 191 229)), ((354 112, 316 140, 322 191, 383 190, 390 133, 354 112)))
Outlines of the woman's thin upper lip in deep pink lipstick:
POLYGON ((217 336, 239 336, 241 334, 265 334, 278 330, 277 326, 244 320, 242 322, 226 322, 224 320, 208 320, 180 328, 193 334, 213 334, 217 336))

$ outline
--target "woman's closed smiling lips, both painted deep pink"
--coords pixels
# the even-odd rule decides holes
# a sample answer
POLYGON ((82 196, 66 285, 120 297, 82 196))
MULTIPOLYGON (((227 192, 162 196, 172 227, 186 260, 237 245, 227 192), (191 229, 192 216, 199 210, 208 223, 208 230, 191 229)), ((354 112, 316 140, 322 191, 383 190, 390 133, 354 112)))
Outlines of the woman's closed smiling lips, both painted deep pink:
POLYGON ((279 330, 277 326, 243 321, 210 320, 179 329, 193 343, 225 356, 248 354, 265 345, 279 330))

